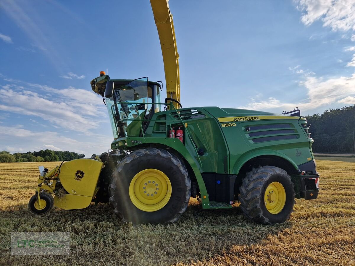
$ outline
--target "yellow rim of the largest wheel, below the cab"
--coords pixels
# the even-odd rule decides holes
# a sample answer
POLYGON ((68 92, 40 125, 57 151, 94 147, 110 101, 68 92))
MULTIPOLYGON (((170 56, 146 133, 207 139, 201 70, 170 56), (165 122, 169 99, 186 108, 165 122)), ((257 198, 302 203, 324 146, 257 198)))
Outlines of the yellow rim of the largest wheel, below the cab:
POLYGON ((132 203, 142 211, 162 209, 171 196, 171 183, 162 171, 146 169, 137 173, 129 188, 132 203))

